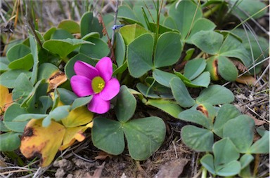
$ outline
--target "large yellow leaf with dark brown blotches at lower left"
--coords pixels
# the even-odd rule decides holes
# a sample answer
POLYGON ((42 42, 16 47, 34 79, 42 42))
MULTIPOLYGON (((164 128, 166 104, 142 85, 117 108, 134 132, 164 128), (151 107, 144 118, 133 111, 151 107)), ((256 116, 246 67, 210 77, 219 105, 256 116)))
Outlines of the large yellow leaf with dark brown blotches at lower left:
POLYGON ((41 167, 48 166, 63 142, 65 128, 51 121, 48 127, 42 127, 43 119, 32 119, 25 126, 20 151, 26 158, 41 157, 41 167))

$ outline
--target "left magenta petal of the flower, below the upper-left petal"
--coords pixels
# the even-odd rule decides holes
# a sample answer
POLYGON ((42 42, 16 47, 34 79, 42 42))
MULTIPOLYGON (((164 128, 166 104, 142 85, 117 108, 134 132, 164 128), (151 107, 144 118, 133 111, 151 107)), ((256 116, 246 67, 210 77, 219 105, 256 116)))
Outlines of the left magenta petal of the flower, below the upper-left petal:
POLYGON ((86 97, 94 94, 91 83, 92 81, 85 76, 72 76, 70 78, 71 88, 78 97, 86 97))

